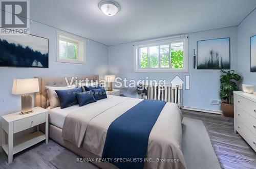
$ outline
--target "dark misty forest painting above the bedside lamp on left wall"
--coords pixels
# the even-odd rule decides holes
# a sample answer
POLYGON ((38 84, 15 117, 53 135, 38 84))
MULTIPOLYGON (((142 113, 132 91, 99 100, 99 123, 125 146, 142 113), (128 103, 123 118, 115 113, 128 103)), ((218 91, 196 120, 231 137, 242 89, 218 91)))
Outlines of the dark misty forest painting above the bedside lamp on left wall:
POLYGON ((48 39, 33 35, 0 36, 0 66, 48 68, 48 39))

